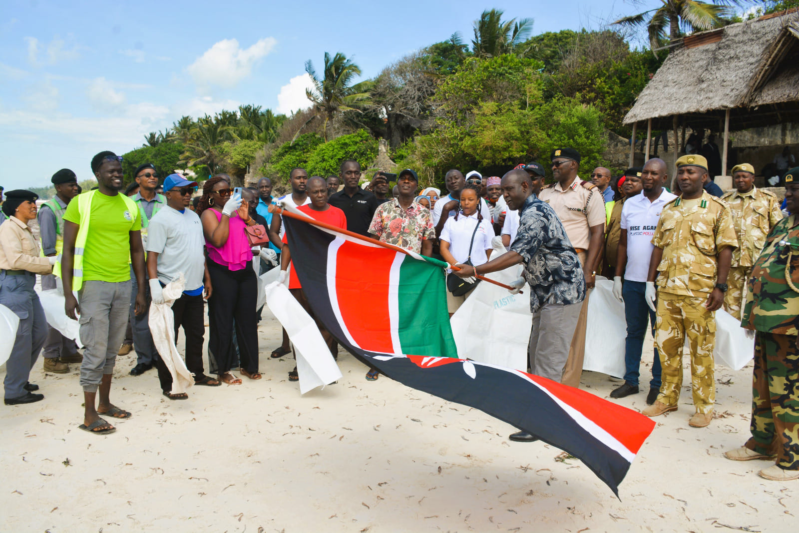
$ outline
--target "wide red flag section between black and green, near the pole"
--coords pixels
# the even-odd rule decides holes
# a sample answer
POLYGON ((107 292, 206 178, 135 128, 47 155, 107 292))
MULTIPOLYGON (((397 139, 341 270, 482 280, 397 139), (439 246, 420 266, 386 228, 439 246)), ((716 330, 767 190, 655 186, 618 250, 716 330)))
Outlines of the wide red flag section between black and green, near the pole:
POLYGON ((336 296, 352 340, 370 352, 394 352, 388 280, 396 252, 344 242, 336 256, 336 296))

